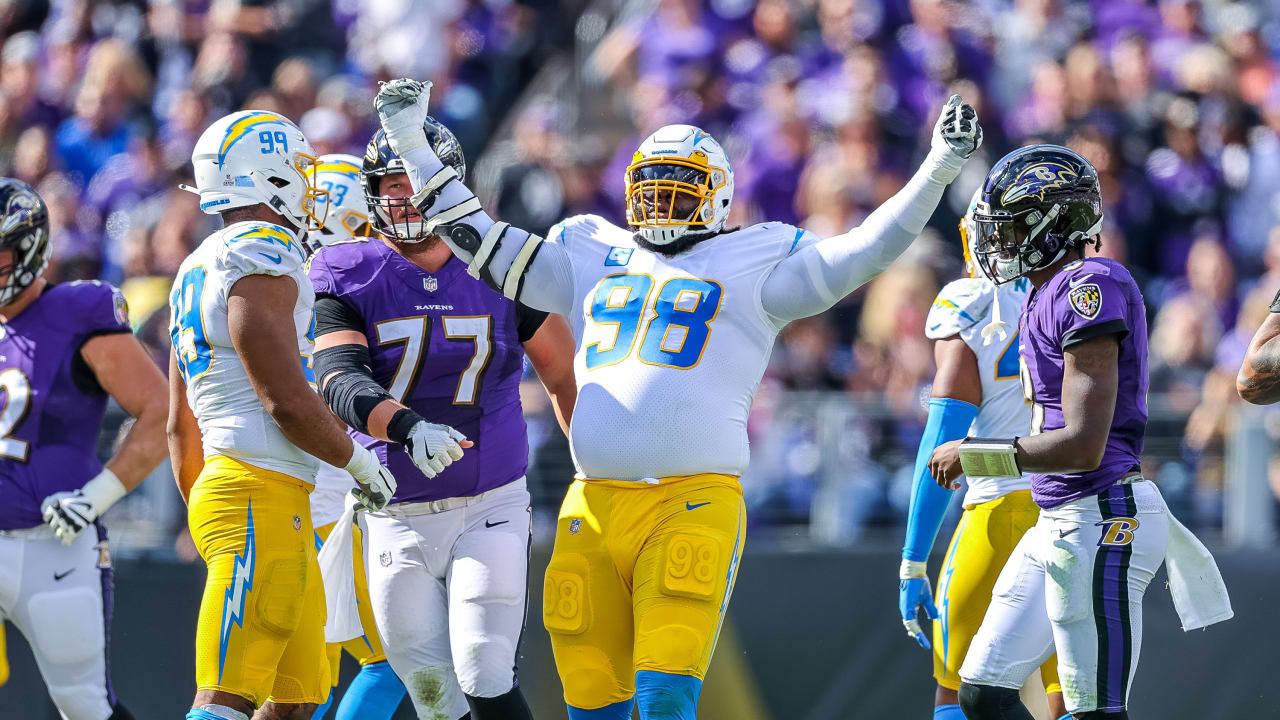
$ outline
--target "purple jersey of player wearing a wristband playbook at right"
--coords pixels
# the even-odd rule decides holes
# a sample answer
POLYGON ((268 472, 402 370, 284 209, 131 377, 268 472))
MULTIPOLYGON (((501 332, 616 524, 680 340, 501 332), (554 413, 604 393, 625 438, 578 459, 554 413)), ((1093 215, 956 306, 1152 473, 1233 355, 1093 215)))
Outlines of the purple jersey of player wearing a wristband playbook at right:
POLYGON ((1137 470, 1147 429, 1147 310, 1129 270, 1105 258, 1068 264, 1027 297, 1021 333, 1034 404, 1032 433, 1065 425, 1062 350, 1100 334, 1120 336, 1116 409, 1102 464, 1089 473, 1033 474, 1036 503, 1056 507, 1098 495, 1137 470))

